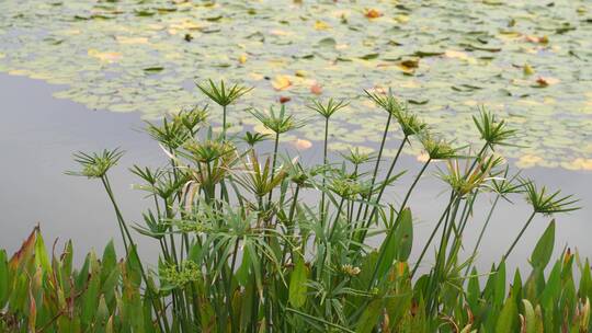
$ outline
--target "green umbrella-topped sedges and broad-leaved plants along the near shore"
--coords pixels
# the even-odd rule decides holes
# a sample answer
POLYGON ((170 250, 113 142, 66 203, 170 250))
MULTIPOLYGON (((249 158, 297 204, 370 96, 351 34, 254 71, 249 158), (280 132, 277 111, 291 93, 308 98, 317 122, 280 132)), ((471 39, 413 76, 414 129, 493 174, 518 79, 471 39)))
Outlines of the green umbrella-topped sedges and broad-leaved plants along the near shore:
POLYGON ((365 91, 384 110, 379 149, 352 148, 330 160, 331 117, 348 103, 311 101, 310 120, 325 125, 323 159, 306 165, 281 153, 282 137, 306 125, 284 104, 250 111, 267 134, 230 134, 227 113, 251 89, 223 81, 197 87, 214 106, 147 123, 168 164, 130 169, 153 203, 143 223, 125 218, 111 186, 109 171, 123 151, 75 154, 80 169, 68 174, 100 181, 125 253, 119 259, 110 242, 102 256, 91 252, 75 268, 72 242, 48 252, 38 228, 12 257, 0 251, 2 332, 590 331, 588 259, 567 249, 551 263, 550 216, 578 209, 578 200, 510 168, 496 148, 512 145, 517 131, 485 107, 473 117, 481 146, 460 147, 390 91, 365 91), (210 117, 221 119, 221 129, 210 117), (390 138, 395 130, 402 140, 390 138), (265 140, 273 150, 261 149, 265 140), (426 159, 417 171, 400 170, 398 158, 411 142, 426 159), (395 158, 383 156, 387 147, 396 147, 395 158), (429 240, 418 243, 408 203, 434 161, 443 161, 436 176, 448 185, 447 202, 430 221, 429 240), (402 176, 412 180, 405 196, 387 200, 387 187, 401 186, 402 176), (488 196, 489 210, 474 214, 488 196), (498 203, 519 196, 532 213, 515 217, 522 229, 503 240, 500 262, 478 272, 475 259, 498 203), (535 220, 548 227, 524 259, 531 272, 506 272, 505 259, 535 220), (469 223, 481 228, 474 248, 465 244, 469 223), (139 257, 138 237, 160 248, 156 267, 139 257), (369 238, 382 242, 369 245, 369 238))

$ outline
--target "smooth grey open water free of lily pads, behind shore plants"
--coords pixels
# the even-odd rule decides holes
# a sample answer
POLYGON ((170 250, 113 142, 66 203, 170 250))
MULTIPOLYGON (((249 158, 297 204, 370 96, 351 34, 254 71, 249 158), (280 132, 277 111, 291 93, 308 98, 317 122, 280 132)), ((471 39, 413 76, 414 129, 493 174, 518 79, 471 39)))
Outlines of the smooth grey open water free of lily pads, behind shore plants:
MULTIPOLYGON (((32 228, 39 223, 48 244, 56 238, 59 238, 59 246, 67 239, 75 240, 80 260, 81 253, 90 249, 102 251, 106 241, 117 240, 118 230, 101 184, 64 175, 65 170, 76 168, 71 153, 114 147, 127 151, 121 165, 112 173, 112 183, 124 215, 133 221, 139 221, 139 211, 149 203, 143 199, 143 193, 130 188, 136 180, 127 168, 133 163, 159 165, 163 158, 160 148, 141 133, 144 125, 139 114, 91 111, 75 102, 56 100, 52 94, 59 89, 42 81, 0 74, 0 248, 15 251, 32 228)), ((312 149, 303 154, 303 160, 318 161, 319 157, 320 152, 312 149)), ((401 168, 412 170, 401 181, 403 185, 418 171, 418 163, 413 158, 403 159, 401 168)), ((550 188, 561 188, 566 194, 573 193, 581 198, 583 209, 557 216, 556 249, 560 251, 569 243, 582 255, 592 256, 592 172, 535 168, 524 174, 550 188)), ((410 206, 415 215, 414 248, 418 252, 444 209, 444 191, 445 186, 431 174, 420 182, 412 195, 410 206)), ((391 200, 400 199, 396 192, 390 196, 391 200)), ((470 226, 469 234, 475 237, 469 237, 469 249, 487 215, 486 209, 479 209, 485 206, 485 200, 483 197, 477 204, 476 218, 482 218, 470 226)), ((508 203, 500 205, 483 240, 485 252, 479 256, 481 266, 499 260, 528 214, 530 207, 521 197, 515 197, 513 206, 508 203)), ((537 217, 510 259, 511 266, 524 265, 524 257, 530 255, 549 220, 548 217, 537 217)), ((156 244, 147 239, 137 239, 143 255, 156 262, 156 244)))

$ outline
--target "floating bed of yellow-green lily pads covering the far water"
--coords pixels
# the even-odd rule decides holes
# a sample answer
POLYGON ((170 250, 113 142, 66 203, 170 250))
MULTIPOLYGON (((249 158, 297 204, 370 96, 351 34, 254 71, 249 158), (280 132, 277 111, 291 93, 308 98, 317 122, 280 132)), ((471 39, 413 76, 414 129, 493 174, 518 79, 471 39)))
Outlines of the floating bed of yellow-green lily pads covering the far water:
MULTIPOLYGON (((333 119, 348 135, 330 142, 342 152, 380 141, 383 117, 361 91, 392 87, 448 139, 477 142, 469 115, 486 104, 527 134, 504 149, 520 168, 592 170, 591 61, 590 1, 0 3, 0 71, 64 84, 57 97, 149 119, 220 76, 259 88, 242 107, 348 97, 333 119)), ((320 133, 311 123, 291 135, 320 133)))

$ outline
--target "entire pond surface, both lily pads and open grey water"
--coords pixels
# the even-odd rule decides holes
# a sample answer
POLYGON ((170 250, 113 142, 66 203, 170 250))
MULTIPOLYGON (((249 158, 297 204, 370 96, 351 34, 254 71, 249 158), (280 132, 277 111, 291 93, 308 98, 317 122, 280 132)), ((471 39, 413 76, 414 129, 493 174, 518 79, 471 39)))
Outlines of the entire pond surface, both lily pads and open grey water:
MULTIPOLYGON (((363 89, 392 88, 459 143, 478 139, 470 116, 486 105, 521 130, 521 147, 503 150, 512 164, 582 199, 582 210, 558 217, 557 243, 592 256, 591 62, 590 1, 0 2, 0 245, 15 250, 37 222, 80 252, 117 238, 100 184, 64 175, 71 152, 128 151, 113 183, 138 220, 146 203, 127 168, 162 162, 143 119, 203 101, 194 81, 224 78, 257 88, 232 106, 235 131, 257 126, 244 108, 281 96, 298 118, 314 116, 303 106, 310 97, 350 100, 334 117, 332 153, 380 139, 385 115, 363 89)), ((321 126, 311 118, 285 140, 312 141, 303 159, 319 161, 321 126)), ((386 154, 395 149, 391 141, 386 154)), ((414 146, 401 166, 417 171, 419 152, 414 146)), ((415 191, 417 243, 443 208, 433 209, 443 191, 433 175, 415 191)), ((482 263, 499 260, 528 213, 520 198, 503 205, 482 263)), ((537 219, 510 264, 523 262, 549 220, 537 219)), ((156 246, 143 245, 156 259, 156 246)))

